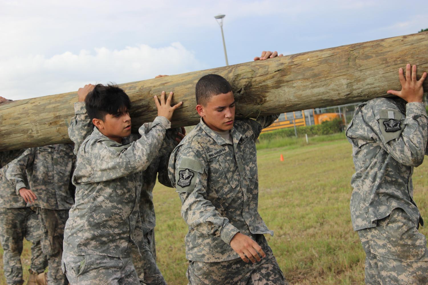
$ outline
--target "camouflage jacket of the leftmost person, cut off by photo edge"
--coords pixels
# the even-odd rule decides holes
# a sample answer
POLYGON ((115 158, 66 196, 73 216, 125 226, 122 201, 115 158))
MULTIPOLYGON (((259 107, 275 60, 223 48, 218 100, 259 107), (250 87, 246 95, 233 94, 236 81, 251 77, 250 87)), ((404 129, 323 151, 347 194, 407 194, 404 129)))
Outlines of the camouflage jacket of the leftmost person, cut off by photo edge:
MULTIPOLYGON (((16 194, 13 181, 6 179, 7 169, 8 165, 0 168, 0 208, 24 208, 27 206, 24 198, 16 194)), ((27 179, 25 182, 28 183, 27 179)))

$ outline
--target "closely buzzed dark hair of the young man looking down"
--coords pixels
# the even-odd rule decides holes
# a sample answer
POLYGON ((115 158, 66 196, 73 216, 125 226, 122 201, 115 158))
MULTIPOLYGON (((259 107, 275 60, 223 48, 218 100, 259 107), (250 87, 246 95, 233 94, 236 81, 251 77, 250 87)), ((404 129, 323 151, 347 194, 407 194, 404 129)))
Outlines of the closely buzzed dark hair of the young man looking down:
POLYGON ((196 83, 196 104, 205 105, 212 96, 226 94, 232 91, 232 86, 222 76, 208 74, 202 76, 196 83))

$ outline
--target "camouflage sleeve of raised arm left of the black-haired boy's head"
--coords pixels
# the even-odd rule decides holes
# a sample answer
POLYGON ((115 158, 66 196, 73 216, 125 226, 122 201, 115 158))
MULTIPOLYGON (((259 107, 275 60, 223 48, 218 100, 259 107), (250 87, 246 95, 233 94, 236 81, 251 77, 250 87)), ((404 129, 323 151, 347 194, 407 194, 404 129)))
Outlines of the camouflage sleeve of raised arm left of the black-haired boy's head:
POLYGON ((94 125, 86 113, 85 102, 74 103, 74 114, 68 126, 68 136, 74 142, 74 154, 77 155, 80 145, 91 134, 94 125))

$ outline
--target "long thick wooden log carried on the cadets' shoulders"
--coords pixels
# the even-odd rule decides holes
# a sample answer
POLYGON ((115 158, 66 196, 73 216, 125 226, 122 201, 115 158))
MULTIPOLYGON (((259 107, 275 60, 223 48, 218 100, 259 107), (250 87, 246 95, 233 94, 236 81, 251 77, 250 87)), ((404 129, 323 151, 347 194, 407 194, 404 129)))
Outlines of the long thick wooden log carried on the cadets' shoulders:
MULTIPOLYGON (((155 118, 153 95, 163 90, 174 91, 174 101, 184 102, 173 126, 198 123, 194 88, 208 73, 232 84, 237 118, 254 118, 385 96, 388 89, 400 89, 397 71, 408 62, 418 66, 418 79, 428 71, 427 47, 428 32, 421 32, 119 86, 131 98, 134 130, 155 118)), ((69 92, 1 104, 0 150, 69 142, 67 125, 76 98, 76 92, 69 92)))

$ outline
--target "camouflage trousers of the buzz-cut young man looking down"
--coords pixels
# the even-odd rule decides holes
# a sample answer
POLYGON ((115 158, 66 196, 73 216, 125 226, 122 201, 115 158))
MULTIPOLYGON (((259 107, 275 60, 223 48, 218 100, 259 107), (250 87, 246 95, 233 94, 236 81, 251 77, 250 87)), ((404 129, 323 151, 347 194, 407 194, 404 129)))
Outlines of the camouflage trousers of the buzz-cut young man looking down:
POLYGON ((287 285, 265 236, 256 235, 255 240, 266 253, 261 261, 190 261, 186 273, 188 285, 287 285))

